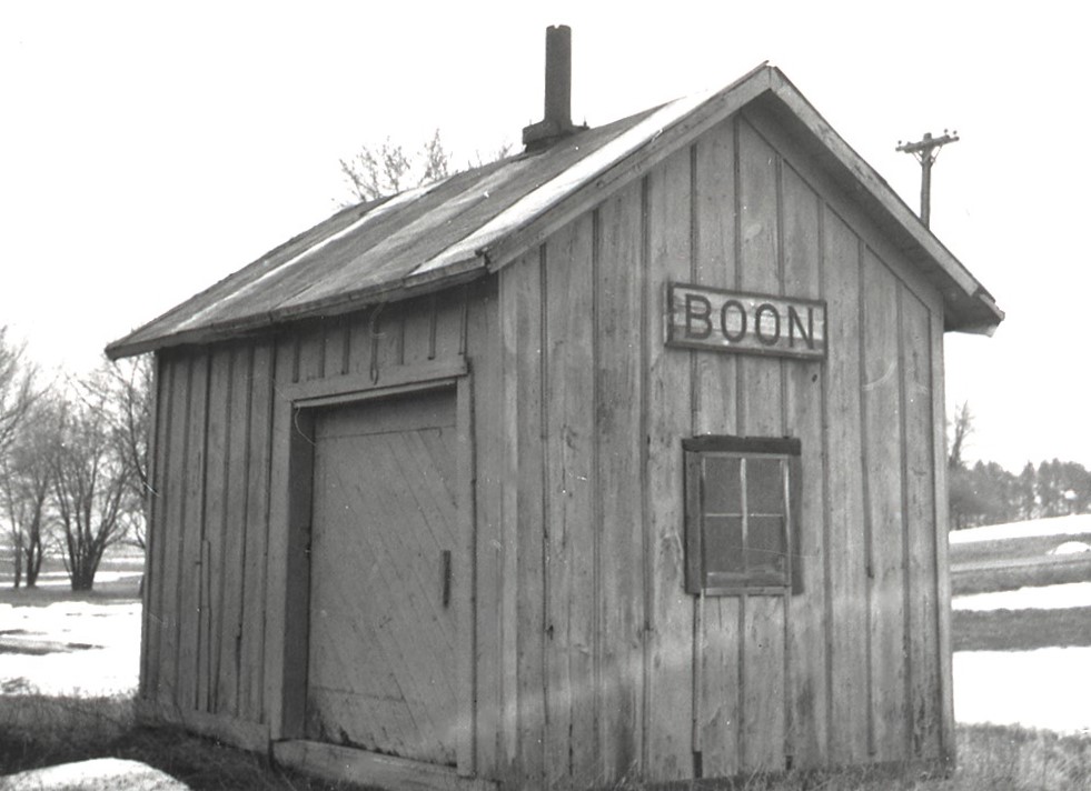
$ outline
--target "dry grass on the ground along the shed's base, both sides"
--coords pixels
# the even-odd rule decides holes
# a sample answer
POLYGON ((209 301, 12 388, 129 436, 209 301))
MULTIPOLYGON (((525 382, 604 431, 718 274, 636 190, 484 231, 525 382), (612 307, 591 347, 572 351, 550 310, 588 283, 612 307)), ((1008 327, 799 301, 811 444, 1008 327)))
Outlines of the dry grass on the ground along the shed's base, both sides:
MULTIPOLYGON (((624 789, 718 791, 1085 791, 1091 789, 1091 737, 1062 737, 1016 727, 968 725, 958 731, 959 765, 951 777, 892 774, 864 768, 793 772, 734 781, 704 780, 624 789)), ((142 761, 192 789, 225 791, 350 791, 349 783, 308 778, 265 757, 175 729, 138 725, 130 699, 0 697, 0 772, 89 758, 142 761)), ((395 790, 391 790, 395 791, 395 790)))

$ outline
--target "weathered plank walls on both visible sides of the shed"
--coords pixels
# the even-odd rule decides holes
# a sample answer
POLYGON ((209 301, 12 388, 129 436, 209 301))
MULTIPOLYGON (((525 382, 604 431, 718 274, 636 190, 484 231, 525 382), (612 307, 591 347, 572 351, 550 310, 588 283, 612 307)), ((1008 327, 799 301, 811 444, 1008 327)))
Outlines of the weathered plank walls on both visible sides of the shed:
POLYGON ((145 710, 257 749, 301 735, 284 389, 465 356, 459 771, 579 788, 951 754, 940 296, 747 113, 498 278, 161 352, 145 710), (666 349, 671 280, 825 300, 829 357, 666 349), (684 592, 681 440, 703 433, 800 438, 802 592, 684 592))

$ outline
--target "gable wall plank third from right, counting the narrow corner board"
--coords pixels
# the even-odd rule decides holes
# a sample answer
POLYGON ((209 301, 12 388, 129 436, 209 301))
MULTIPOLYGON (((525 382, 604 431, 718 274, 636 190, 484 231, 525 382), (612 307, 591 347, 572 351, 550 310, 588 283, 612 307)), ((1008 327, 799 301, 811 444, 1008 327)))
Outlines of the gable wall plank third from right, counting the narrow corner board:
POLYGON ((863 261, 862 434, 871 528, 871 698, 875 758, 904 758, 904 509, 902 503, 902 372, 899 370, 897 282, 871 250, 863 261))

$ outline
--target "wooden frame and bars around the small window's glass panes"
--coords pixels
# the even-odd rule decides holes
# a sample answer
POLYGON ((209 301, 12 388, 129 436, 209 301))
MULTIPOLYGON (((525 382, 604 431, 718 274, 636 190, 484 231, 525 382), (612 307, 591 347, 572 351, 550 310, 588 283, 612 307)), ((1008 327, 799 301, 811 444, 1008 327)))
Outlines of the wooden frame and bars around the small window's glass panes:
MULTIPOLYGON (((727 434, 705 434, 682 440, 683 477, 685 479, 685 585, 686 592, 704 595, 767 594, 785 595, 801 593, 802 562, 796 548, 800 545, 800 503, 802 490, 802 469, 800 440, 793 437, 735 437, 727 434), (708 512, 704 503, 704 481, 702 469, 711 457, 740 459, 740 517, 743 520, 744 541, 748 521, 758 515, 745 507, 746 460, 775 459, 781 462, 781 483, 783 488, 784 514, 782 540, 786 563, 782 573, 765 573, 743 568, 741 572, 710 570, 706 568, 705 528, 708 512)), ((723 514, 715 518, 724 518, 723 514)), ((742 549, 745 563, 747 544, 742 549)))

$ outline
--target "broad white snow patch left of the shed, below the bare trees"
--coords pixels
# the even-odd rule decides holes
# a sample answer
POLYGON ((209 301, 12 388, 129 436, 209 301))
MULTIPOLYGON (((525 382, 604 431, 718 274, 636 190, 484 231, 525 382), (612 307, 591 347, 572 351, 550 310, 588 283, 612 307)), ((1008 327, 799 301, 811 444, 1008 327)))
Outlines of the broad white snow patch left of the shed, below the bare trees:
POLYGON ((139 664, 138 602, 0 603, 2 692, 131 694, 139 664))

